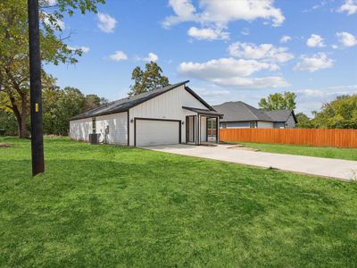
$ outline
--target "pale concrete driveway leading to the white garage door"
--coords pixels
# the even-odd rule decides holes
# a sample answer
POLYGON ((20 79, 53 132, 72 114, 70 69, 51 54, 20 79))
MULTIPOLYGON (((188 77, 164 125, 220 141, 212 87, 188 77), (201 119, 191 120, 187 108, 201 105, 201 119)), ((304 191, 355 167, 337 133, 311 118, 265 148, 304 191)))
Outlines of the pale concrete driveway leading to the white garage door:
POLYGON ((265 168, 272 167, 287 172, 301 172, 340 180, 357 179, 357 161, 252 152, 239 149, 232 145, 218 145, 216 147, 170 145, 143 148, 177 155, 203 157, 230 163, 243 163, 265 168))

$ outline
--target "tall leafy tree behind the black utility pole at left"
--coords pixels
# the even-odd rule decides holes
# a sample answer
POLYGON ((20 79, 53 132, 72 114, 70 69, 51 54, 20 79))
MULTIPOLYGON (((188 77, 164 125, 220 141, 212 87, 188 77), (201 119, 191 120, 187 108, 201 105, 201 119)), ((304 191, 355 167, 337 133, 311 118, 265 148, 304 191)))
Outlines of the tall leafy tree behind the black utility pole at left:
MULTIPOLYGON (((41 60, 43 63, 77 63, 80 49, 70 49, 62 38, 61 20, 64 14, 96 12, 96 4, 104 0, 58 0, 40 4, 41 60), (50 12, 46 12, 46 11, 50 12)), ((18 122, 20 138, 26 138, 29 115, 29 30, 26 0, 0 2, 0 100, 1 109, 10 109, 18 122)), ((70 34, 71 35, 71 34, 70 34)), ((43 76, 46 72, 43 71, 43 76)))

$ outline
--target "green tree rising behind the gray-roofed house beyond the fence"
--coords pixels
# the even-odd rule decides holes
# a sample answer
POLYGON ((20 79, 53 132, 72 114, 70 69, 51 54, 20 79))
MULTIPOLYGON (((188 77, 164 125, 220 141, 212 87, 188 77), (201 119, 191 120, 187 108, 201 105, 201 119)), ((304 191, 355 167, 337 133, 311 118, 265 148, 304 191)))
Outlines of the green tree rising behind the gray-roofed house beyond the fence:
POLYGON ((296 94, 293 92, 270 94, 268 98, 263 97, 260 100, 259 106, 267 111, 294 110, 296 108, 295 98, 296 94))

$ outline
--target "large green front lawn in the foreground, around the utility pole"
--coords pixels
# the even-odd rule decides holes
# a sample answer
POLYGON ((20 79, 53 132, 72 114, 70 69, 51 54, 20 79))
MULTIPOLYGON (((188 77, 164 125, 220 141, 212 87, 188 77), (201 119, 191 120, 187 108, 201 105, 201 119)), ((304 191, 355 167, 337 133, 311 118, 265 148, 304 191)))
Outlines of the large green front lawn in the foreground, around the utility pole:
POLYGON ((138 148, 0 138, 1 267, 357 266, 357 183, 138 148))

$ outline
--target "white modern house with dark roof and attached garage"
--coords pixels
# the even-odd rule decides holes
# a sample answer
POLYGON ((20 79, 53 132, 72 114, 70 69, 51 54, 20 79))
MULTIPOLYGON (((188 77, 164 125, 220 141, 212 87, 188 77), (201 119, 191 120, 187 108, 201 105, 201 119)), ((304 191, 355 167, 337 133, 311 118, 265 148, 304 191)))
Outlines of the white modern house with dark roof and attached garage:
POLYGON ((221 114, 186 86, 188 81, 128 96, 79 114, 70 121, 70 137, 127 146, 202 144, 219 140, 221 114))

